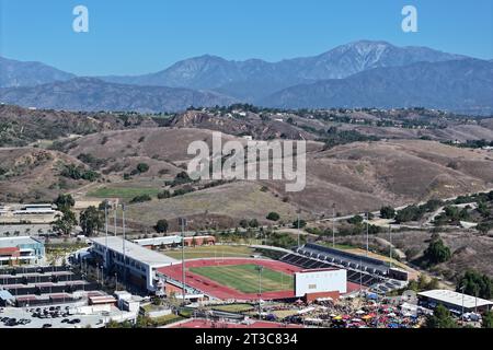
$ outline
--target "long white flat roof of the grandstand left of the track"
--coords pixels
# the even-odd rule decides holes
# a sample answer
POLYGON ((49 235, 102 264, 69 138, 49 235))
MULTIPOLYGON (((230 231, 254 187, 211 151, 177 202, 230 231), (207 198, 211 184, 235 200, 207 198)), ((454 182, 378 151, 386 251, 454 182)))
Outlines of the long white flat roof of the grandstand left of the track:
MULTIPOLYGON (((91 241, 102 246, 106 245, 106 237, 91 238, 91 241)), ((123 238, 108 236, 107 248, 123 255, 123 238)), ((163 267, 177 262, 177 260, 169 256, 147 249, 130 241, 125 241, 125 255, 151 267, 163 267)))

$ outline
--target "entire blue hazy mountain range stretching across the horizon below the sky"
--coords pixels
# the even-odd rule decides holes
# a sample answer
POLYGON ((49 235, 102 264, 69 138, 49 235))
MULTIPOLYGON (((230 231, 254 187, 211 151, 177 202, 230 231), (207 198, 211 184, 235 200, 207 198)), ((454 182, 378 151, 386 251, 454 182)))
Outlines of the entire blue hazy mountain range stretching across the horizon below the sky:
POLYGON ((206 55, 156 73, 91 79, 43 63, 1 59, 0 101, 87 110, 163 112, 248 102, 286 108, 426 106, 489 114, 491 67, 492 61, 426 47, 369 40, 278 62, 206 55))

